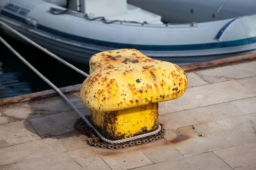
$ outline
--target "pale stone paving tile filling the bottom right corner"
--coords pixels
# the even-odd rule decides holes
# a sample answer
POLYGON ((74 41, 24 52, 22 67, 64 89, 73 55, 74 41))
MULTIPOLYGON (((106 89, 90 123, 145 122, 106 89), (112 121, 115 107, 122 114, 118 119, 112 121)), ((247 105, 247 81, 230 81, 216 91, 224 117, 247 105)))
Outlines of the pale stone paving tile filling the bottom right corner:
POLYGON ((256 170, 256 142, 213 152, 234 170, 256 170))

